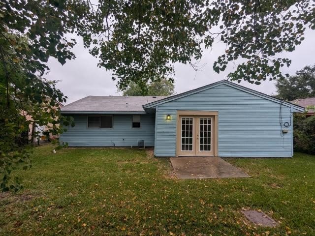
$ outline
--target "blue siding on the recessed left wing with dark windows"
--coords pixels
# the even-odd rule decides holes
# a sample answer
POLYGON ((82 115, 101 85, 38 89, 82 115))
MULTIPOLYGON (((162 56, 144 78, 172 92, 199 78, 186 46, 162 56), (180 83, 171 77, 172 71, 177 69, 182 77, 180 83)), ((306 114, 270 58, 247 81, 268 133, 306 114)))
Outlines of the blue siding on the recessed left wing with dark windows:
POLYGON ((66 127, 61 142, 70 147, 130 147, 138 140, 146 146, 154 146, 155 115, 141 115, 141 128, 132 128, 132 115, 113 115, 113 128, 88 128, 87 115, 73 115, 75 126, 66 127))

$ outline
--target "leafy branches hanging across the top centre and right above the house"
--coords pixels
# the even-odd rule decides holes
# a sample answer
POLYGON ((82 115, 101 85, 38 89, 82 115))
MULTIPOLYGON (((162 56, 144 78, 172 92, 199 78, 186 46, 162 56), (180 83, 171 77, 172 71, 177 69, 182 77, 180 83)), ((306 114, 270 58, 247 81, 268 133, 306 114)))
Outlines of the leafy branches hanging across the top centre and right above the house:
POLYGON ((294 51, 305 29, 315 29, 313 0, 108 0, 85 6, 79 34, 120 89, 130 82, 144 87, 159 76, 172 81, 174 62, 198 69, 202 47, 216 40, 226 45, 216 72, 241 59, 231 80, 283 78, 280 68, 291 60, 277 55, 294 51))

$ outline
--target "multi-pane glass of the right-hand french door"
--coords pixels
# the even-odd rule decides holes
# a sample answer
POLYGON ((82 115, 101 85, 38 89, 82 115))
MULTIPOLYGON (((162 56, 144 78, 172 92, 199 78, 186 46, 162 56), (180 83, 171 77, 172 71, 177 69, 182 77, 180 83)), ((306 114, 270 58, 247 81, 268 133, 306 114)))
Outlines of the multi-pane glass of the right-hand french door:
POLYGON ((211 118, 200 118, 199 150, 211 151, 211 118))

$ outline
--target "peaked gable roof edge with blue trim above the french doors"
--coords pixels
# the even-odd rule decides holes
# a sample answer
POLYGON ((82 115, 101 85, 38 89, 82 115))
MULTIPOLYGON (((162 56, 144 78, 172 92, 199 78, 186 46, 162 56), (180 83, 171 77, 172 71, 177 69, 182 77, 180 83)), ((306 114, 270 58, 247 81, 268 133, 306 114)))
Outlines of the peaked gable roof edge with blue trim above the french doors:
POLYGON ((147 103, 147 104, 143 105, 142 107, 144 109, 153 108, 153 107, 155 107, 157 105, 160 105, 160 104, 163 104, 165 102, 169 102, 169 101, 176 100, 178 98, 186 97, 188 95, 191 95, 191 94, 194 94, 194 93, 206 90, 206 89, 211 89, 211 88, 217 87, 217 86, 219 86, 221 84, 225 84, 225 85, 233 87, 235 89, 246 91, 246 92, 251 93, 253 95, 256 95, 256 96, 259 96, 259 97, 262 97, 262 98, 265 98, 265 99, 268 99, 268 100, 271 100, 271 101, 274 101, 274 102, 277 102, 277 103, 282 103, 282 105, 285 105, 287 107, 293 106, 296 110, 301 111, 301 112, 303 112, 305 110, 304 107, 301 107, 299 105, 280 100, 278 98, 275 98, 273 96, 267 95, 265 93, 258 92, 256 90, 249 89, 249 88, 246 88, 244 86, 234 84, 234 83, 229 82, 227 80, 221 80, 221 81, 218 81, 218 82, 215 82, 215 83, 212 83, 212 84, 209 84, 209 85, 197 88, 197 89, 192 89, 192 90, 189 90, 189 91, 186 91, 186 92, 183 92, 183 93, 179 93, 179 94, 176 94, 176 95, 173 95, 173 96, 170 96, 170 97, 163 98, 163 99, 158 100, 158 101, 147 103))

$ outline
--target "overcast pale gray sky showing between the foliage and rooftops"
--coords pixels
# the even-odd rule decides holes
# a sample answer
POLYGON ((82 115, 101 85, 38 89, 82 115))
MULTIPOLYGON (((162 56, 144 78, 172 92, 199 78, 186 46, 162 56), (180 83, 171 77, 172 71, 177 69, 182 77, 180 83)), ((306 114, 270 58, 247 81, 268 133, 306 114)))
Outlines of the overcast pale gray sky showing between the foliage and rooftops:
MULTIPOLYGON (((57 87, 68 97, 67 103, 76 101, 88 95, 121 95, 117 93, 116 81, 111 80, 111 71, 98 68, 98 59, 92 57, 83 47, 82 40, 77 38, 73 52, 76 59, 61 65, 56 59, 49 59, 50 72, 46 76, 50 80, 60 80, 57 87)), ((229 64, 224 72, 217 74, 213 71, 213 62, 225 52, 225 45, 214 43, 211 50, 204 50, 200 64, 205 64, 202 71, 195 72, 189 65, 175 64, 175 92, 181 93, 227 78, 236 65, 229 64)), ((315 64, 315 30, 307 30, 305 40, 292 53, 283 53, 282 57, 292 59, 290 67, 283 67, 284 73, 294 74, 305 65, 315 64)), ((261 85, 251 85, 246 81, 242 86, 271 95, 275 92, 274 81, 264 81, 261 85)))

